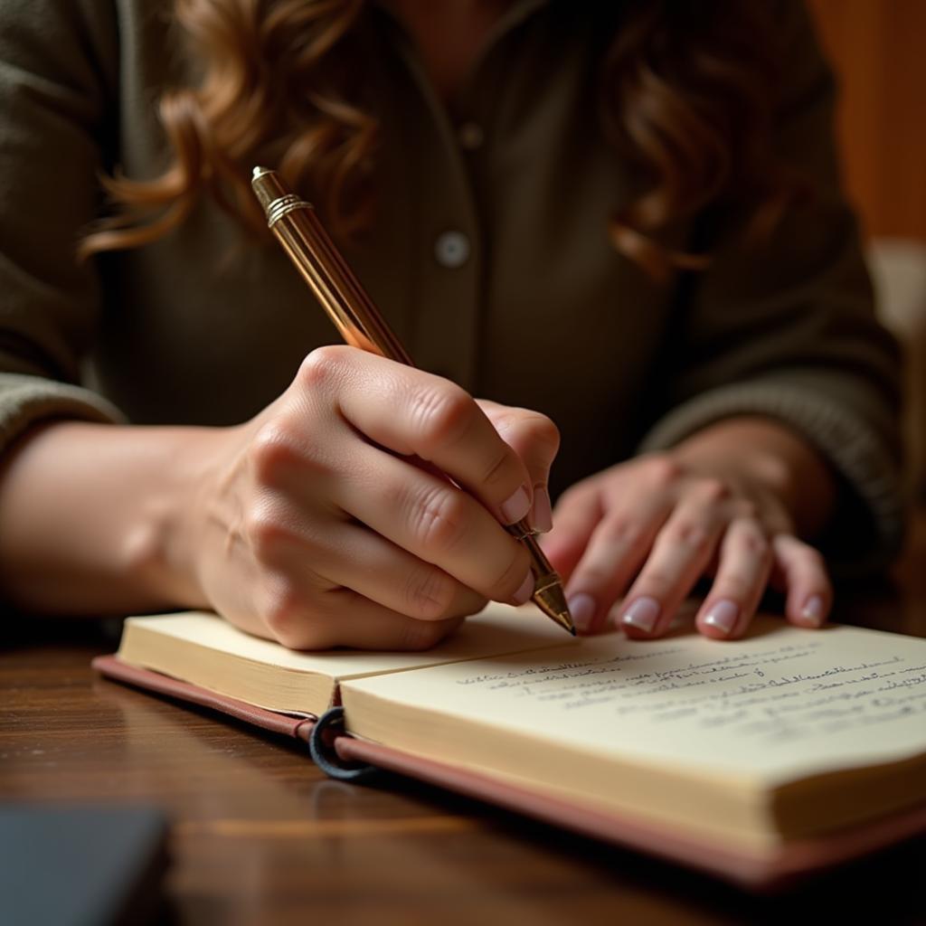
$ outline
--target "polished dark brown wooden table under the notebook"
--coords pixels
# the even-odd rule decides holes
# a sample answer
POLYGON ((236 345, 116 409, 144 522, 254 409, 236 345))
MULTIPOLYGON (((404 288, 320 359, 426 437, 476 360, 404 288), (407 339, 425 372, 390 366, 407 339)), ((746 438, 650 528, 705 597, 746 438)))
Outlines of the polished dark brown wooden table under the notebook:
MULTIPOLYGON (((926 636, 923 551, 926 520, 895 585, 845 589, 838 617, 926 636)), ((170 921, 926 922, 926 840, 751 897, 414 782, 328 781, 299 745, 95 677, 116 642, 33 621, 0 654, 0 795, 163 807, 170 921)))

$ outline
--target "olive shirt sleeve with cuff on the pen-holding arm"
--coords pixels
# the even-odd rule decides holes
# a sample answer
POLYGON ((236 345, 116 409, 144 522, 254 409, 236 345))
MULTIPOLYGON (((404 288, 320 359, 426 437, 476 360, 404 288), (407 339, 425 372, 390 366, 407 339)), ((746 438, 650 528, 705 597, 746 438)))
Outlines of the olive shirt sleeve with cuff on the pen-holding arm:
POLYGON ((0 451, 39 419, 120 418, 78 384, 100 314, 76 244, 97 214, 111 131, 108 8, 0 0, 0 451))

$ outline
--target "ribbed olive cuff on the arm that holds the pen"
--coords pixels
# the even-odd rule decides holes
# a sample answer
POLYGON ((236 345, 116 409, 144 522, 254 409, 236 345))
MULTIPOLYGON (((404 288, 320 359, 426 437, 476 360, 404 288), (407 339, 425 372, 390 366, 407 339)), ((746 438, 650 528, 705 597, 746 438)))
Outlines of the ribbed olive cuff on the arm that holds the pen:
POLYGON ((80 386, 20 373, 0 374, 0 453, 46 419, 123 422, 119 409, 80 386))

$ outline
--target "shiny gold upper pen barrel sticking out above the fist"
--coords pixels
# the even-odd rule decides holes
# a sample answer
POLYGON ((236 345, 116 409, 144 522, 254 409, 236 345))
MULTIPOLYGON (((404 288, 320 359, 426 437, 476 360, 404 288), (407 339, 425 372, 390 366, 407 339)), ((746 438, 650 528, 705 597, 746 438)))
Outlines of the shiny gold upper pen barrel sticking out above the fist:
POLYGON ((344 342, 413 366, 406 349, 341 257, 311 204, 287 191, 271 170, 255 171, 252 186, 264 206, 270 231, 344 342))

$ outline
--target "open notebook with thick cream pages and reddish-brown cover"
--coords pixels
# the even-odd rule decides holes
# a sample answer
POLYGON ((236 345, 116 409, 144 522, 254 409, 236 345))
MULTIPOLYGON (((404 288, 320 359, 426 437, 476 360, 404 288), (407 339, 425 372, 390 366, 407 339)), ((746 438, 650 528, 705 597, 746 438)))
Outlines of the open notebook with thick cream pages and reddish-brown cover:
POLYGON ((770 887, 926 831, 926 641, 759 618, 564 641, 491 606, 426 653, 294 653, 203 614, 133 618, 123 681, 307 738, 344 708, 345 760, 770 887), (175 681, 176 680, 176 681, 175 681))

